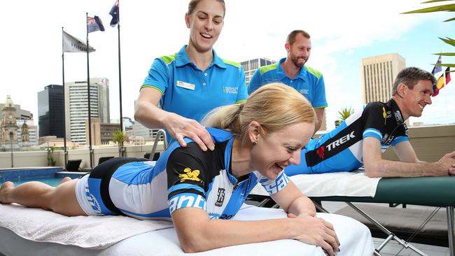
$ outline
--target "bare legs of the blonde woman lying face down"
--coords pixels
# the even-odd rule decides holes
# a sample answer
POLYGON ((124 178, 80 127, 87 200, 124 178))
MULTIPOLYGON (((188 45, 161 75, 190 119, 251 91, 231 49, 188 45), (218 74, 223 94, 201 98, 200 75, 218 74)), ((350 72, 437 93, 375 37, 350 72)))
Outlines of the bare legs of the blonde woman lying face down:
MULTIPOLYGON (((68 180, 68 179, 65 179, 68 180)), ((67 216, 86 215, 76 199, 76 183, 78 180, 68 180, 52 187, 38 181, 23 183, 18 187, 10 181, 0 187, 0 202, 2 204, 22 204, 32 208, 43 208, 67 216)))

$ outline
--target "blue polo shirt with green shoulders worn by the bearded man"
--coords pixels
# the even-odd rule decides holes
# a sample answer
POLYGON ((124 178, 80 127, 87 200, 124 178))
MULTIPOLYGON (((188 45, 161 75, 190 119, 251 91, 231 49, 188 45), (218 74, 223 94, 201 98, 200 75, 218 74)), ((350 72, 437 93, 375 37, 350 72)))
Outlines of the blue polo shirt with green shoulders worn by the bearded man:
POLYGON ((295 88, 306 97, 313 108, 326 108, 328 105, 325 99, 325 84, 322 73, 316 69, 311 69, 309 66, 303 66, 298 76, 290 79, 281 68, 281 63, 285 60, 286 58, 280 59, 277 63, 262 66, 256 70, 248 85, 248 94, 267 83, 284 83, 295 88))

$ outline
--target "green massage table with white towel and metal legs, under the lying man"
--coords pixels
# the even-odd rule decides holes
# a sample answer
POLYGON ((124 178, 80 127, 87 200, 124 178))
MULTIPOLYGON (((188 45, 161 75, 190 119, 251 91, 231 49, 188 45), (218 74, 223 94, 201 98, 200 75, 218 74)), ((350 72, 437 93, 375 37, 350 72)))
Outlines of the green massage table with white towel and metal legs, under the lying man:
MULTIPOLYGON (((360 213, 363 218, 370 220, 381 229, 387 238, 384 243, 377 247, 375 255, 380 255, 380 250, 392 239, 403 247, 414 250, 419 255, 425 254, 383 227, 371 215, 353 205, 353 202, 444 207, 447 213, 449 255, 455 255, 455 177, 368 178, 363 171, 353 171, 351 173, 297 175, 291 176, 290 180, 293 180, 295 185, 316 203, 318 201, 346 202, 351 208, 360 213), (351 192, 350 190, 355 191, 351 192)), ((249 199, 260 201, 258 206, 269 204, 267 201, 271 200, 267 197, 267 193, 261 190, 261 187, 255 187, 249 199)), ((320 211, 327 212, 321 205, 315 205, 320 211)), ((393 214, 393 212, 394 208, 390 208, 390 213, 393 214)))

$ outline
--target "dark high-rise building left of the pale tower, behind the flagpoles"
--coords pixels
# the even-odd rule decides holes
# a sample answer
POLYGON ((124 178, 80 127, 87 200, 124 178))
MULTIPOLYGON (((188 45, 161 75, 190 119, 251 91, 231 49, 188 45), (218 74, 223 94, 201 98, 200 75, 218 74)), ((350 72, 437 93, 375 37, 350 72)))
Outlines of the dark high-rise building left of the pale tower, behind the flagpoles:
POLYGON ((63 86, 48 85, 38 92, 38 127, 39 136, 57 136, 63 138, 63 86))

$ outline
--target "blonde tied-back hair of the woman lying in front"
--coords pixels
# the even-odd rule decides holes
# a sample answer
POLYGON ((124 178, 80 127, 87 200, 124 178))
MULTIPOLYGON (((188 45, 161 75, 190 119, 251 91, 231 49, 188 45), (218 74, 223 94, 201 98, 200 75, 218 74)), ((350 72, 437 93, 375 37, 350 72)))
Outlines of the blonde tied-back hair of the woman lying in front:
POLYGON ((266 135, 300 122, 314 123, 315 118, 313 107, 302 94, 288 85, 270 83, 259 87, 242 104, 215 108, 202 125, 228 129, 245 145, 252 121, 258 122, 261 133, 266 135))

